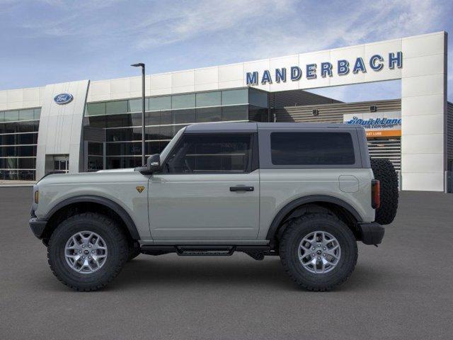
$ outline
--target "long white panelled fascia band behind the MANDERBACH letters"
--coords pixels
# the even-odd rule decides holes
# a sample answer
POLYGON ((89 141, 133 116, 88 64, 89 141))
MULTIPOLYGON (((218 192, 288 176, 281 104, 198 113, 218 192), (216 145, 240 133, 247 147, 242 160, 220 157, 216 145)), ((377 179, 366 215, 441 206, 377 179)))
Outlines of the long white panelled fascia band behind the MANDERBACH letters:
MULTIPOLYGON (((431 33, 428 35, 417 35, 410 38, 371 42, 319 52, 302 53, 299 55, 253 60, 251 62, 189 69, 163 74, 152 74, 151 76, 147 76, 146 79, 147 96, 179 94, 193 91, 212 91, 217 89, 234 89, 247 86, 247 72, 258 72, 261 76, 266 69, 270 70, 273 74, 273 70, 282 67, 287 69, 287 81, 281 81, 280 83, 273 81, 270 84, 260 84, 258 81, 258 84, 253 87, 265 91, 287 91, 401 79, 402 77, 413 77, 414 74, 420 74, 420 72, 421 74, 433 74, 440 72, 443 67, 442 64, 439 64, 442 57, 430 57, 437 54, 437 45, 432 43, 431 40, 440 38, 443 41, 444 35, 446 35, 445 32, 431 33), (408 44, 409 40, 412 41, 411 44, 408 44), (425 44, 427 40, 428 43, 425 44), (405 44, 403 44, 403 42, 405 42, 405 44), (419 52, 417 52, 417 48, 413 47, 414 44, 419 45, 421 49, 425 50, 426 55, 420 55, 419 52), (399 51, 403 52, 403 67, 394 67, 394 69, 390 69, 388 67, 389 53, 396 53, 399 51), (372 71, 369 69, 368 65, 369 58, 376 54, 384 57, 385 66, 379 72, 372 71), (367 72, 357 72, 356 74, 352 72, 353 63, 357 57, 363 58, 365 66, 367 67, 367 72), (411 60, 413 57, 418 57, 419 59, 411 60), (350 72, 348 72, 348 74, 341 76, 336 74, 336 62, 338 60, 348 60, 350 62, 350 72), (316 63, 319 68, 321 62, 331 62, 333 65, 333 76, 321 77, 320 70, 318 69, 316 79, 306 79, 306 64, 316 63), (420 70, 417 70, 417 65, 421 66, 420 70), (428 67, 425 67, 425 65, 428 65, 428 67), (299 66, 302 69, 303 76, 298 81, 289 80, 289 69, 292 66, 299 66)), ((139 96, 141 96, 140 77, 91 81, 91 86, 88 91, 88 101, 104 101, 114 98, 134 98, 139 96), (132 86, 132 84, 134 84, 134 86, 132 86)))

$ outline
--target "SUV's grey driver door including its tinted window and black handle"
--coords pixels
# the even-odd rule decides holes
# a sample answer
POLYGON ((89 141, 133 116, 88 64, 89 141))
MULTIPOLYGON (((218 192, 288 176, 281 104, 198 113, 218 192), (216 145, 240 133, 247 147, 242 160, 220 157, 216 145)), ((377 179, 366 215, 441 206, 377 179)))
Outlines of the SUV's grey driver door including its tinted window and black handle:
POLYGON ((153 239, 256 239, 257 143, 253 133, 185 133, 149 181, 153 239))

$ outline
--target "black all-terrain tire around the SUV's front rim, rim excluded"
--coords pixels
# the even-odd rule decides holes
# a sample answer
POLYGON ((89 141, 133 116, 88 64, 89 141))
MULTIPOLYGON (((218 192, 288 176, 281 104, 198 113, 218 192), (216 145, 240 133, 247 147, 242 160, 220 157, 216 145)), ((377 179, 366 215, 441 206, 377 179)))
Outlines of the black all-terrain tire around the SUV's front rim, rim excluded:
POLYGON ((47 247, 47 260, 52 272, 69 288, 92 291, 105 287, 124 266, 129 246, 122 229, 110 218, 94 212, 84 212, 64 220, 52 233, 47 247), (93 273, 78 273, 69 266, 65 246, 77 232, 94 232, 105 241, 105 263, 93 273))

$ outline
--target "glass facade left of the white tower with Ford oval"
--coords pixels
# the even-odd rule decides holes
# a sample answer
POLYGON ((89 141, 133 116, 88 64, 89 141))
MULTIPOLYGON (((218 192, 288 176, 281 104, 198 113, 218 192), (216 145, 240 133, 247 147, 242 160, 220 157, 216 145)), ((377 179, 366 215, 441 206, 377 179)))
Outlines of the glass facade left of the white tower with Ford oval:
POLYGON ((0 112, 0 179, 35 180, 40 108, 0 112))

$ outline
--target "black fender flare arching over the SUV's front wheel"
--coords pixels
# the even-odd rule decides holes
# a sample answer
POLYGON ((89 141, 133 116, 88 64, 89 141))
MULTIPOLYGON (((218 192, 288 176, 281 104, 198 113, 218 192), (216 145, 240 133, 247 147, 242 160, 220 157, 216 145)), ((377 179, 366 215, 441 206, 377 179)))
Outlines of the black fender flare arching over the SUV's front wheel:
POLYGON ((127 213, 127 211, 122 208, 121 205, 118 203, 114 202, 113 200, 110 200, 109 198, 105 198, 102 196, 94 196, 94 195, 83 195, 83 196, 74 196, 67 198, 65 200, 62 200, 61 202, 57 203, 49 212, 47 212, 46 216, 44 217, 45 220, 50 220, 52 215, 55 214, 58 210, 66 207, 67 205, 71 205, 74 203, 98 203, 101 205, 104 205, 107 208, 112 209, 114 212, 117 213, 118 216, 120 216, 122 222, 125 223, 127 230, 130 232, 130 236, 134 240, 140 239, 139 232, 137 231, 137 227, 135 226, 134 220, 132 220, 132 217, 127 213))

